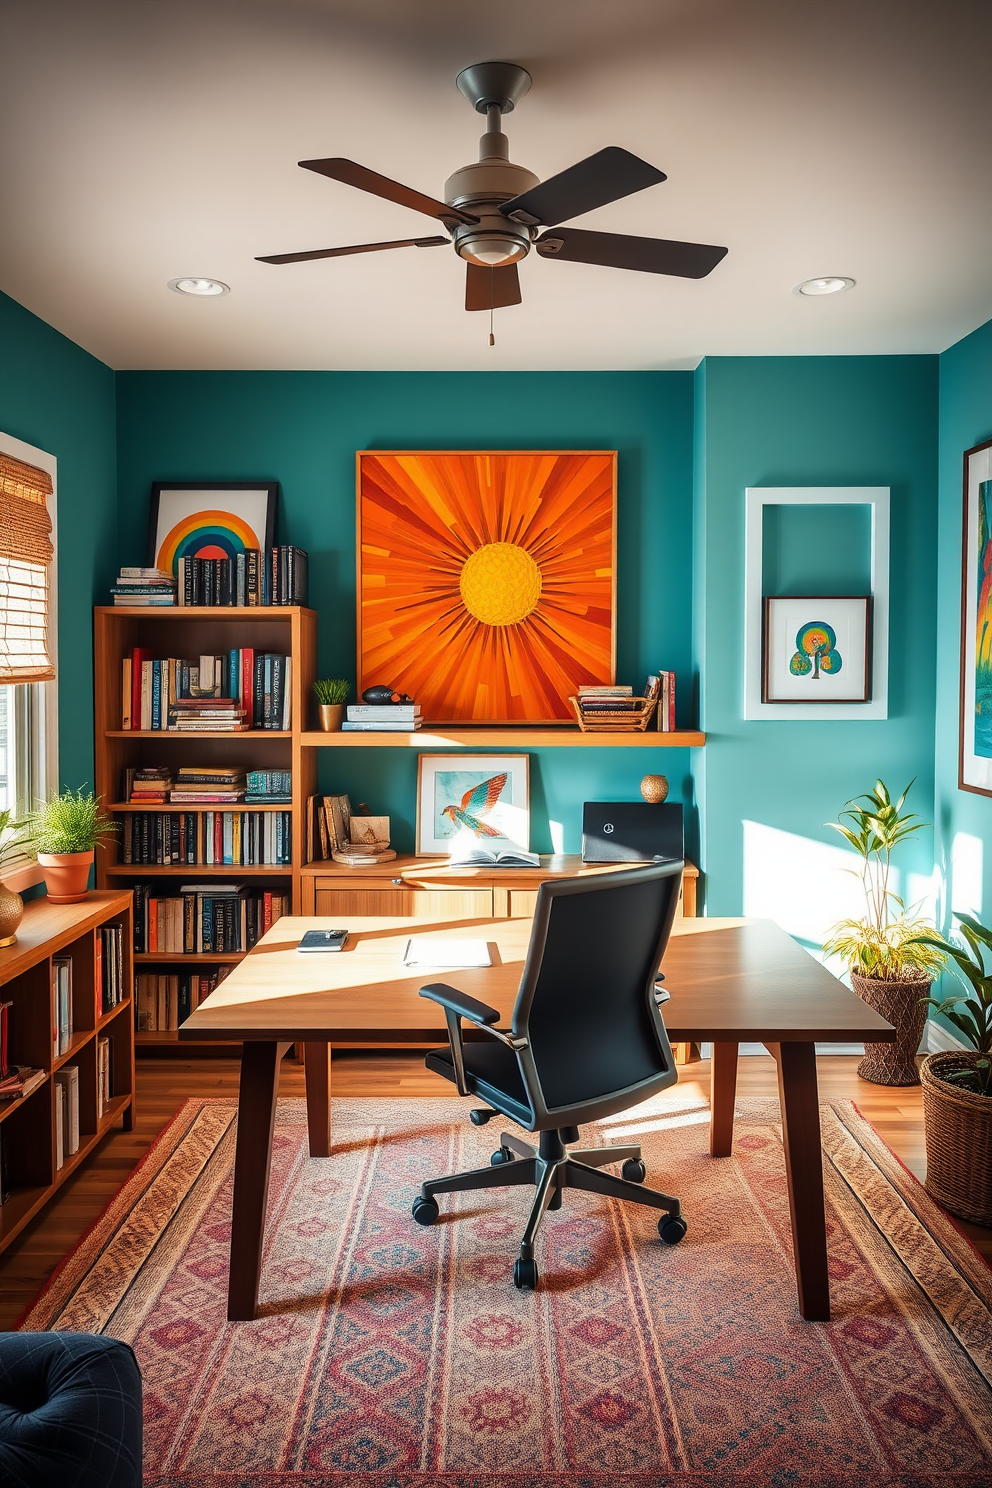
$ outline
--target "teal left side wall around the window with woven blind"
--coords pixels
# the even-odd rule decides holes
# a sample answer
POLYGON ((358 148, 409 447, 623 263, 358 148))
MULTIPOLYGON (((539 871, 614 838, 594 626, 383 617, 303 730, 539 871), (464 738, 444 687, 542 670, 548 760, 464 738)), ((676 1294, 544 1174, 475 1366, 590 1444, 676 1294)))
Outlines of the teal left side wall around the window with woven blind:
POLYGON ((115 373, 0 295, 0 429, 58 458, 58 760, 94 780, 92 606, 117 559, 115 373))

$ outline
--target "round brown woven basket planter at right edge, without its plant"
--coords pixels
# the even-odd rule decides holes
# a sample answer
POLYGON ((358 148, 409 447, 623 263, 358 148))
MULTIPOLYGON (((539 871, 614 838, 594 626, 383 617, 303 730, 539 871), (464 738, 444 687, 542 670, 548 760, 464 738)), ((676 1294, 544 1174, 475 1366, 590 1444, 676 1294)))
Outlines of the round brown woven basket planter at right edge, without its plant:
POLYGON ((977 1054, 930 1054, 921 1068, 927 1192, 973 1225, 992 1225, 992 1095, 976 1095, 941 1079, 977 1054))

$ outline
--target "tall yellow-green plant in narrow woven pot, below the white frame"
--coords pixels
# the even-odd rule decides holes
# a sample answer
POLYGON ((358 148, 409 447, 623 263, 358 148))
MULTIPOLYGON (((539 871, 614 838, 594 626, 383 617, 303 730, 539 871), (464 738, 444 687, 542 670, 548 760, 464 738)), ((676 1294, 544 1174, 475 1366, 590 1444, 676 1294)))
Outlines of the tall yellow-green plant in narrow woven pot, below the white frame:
POLYGON ((947 954, 933 937, 934 927, 910 918, 889 887, 894 848, 925 826, 906 811, 912 786, 910 780, 892 801, 877 780, 875 790, 849 801, 840 820, 828 823, 861 859, 858 876, 867 914, 836 924, 824 951, 846 961, 854 991, 895 1028, 895 1043, 864 1045, 858 1074, 875 1085, 919 1085, 916 1051, 927 1024, 927 998, 947 954))

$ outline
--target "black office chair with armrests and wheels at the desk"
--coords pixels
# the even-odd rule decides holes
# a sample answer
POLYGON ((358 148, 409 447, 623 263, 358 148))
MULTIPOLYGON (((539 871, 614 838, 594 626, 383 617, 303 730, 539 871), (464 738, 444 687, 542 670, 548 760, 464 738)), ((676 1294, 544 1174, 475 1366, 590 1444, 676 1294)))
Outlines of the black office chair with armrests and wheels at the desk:
POLYGON ((678 1199, 640 1187, 645 1178, 640 1146, 565 1150, 579 1141, 582 1122, 637 1106, 678 1079, 659 1012, 668 997, 654 979, 681 876, 681 863, 659 863, 541 884, 510 1033, 492 1027, 500 1021, 495 1007, 443 982, 421 987, 421 997, 445 1009, 451 1039, 448 1049, 427 1055, 427 1068, 452 1080, 460 1095, 489 1101, 494 1109, 471 1112, 474 1125, 501 1112, 540 1132, 540 1146, 503 1132, 491 1167, 425 1183, 413 1219, 437 1220, 437 1193, 535 1184, 513 1265, 521 1289, 537 1286, 534 1238, 546 1210, 561 1208, 562 1189, 663 1210, 657 1229, 669 1245, 686 1234, 678 1199), (463 1018, 489 1037, 464 1043, 463 1018), (599 1171, 608 1162, 623 1164, 622 1178, 599 1171))

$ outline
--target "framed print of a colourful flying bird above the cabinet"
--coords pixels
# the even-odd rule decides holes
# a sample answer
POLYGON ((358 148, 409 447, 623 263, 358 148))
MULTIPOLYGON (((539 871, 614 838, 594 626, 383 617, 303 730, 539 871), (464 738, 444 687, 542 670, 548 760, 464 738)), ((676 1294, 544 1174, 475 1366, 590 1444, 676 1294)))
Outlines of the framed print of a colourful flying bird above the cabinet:
POLYGON ((482 845, 529 850, 528 754, 421 754, 416 777, 416 853, 482 845))

